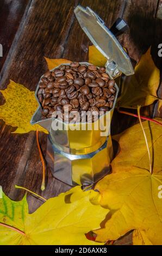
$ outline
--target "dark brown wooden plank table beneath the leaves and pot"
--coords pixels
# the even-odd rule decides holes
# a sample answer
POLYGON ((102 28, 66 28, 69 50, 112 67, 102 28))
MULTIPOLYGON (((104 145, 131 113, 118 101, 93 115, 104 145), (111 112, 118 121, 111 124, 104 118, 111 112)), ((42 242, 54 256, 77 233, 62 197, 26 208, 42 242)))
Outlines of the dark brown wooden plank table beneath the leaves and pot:
MULTIPOLYGON (((157 52, 158 45, 162 43, 161 1, 0 0, 0 44, 3 45, 3 57, 0 57, 1 89, 6 88, 11 79, 34 91, 40 76, 47 70, 44 56, 88 61, 88 46, 91 42, 73 13, 78 4, 96 11, 108 27, 113 25, 117 17, 122 17, 130 29, 119 40, 127 48, 129 56, 138 62, 141 54, 152 46, 154 62, 160 67, 162 58, 158 57, 157 52)), ((160 84, 158 96, 162 96, 160 84)), ((2 96, 0 99, 3 104, 2 96)), ((158 102, 143 108, 142 114, 160 117, 157 108, 158 102)), ((136 122, 134 117, 115 112, 111 131, 121 132, 136 122)), ((45 198, 68 190, 70 186, 54 179, 48 168, 46 190, 40 190, 42 165, 35 132, 12 134, 14 130, 1 121, 0 185, 4 192, 10 198, 20 200, 24 191, 15 189, 15 184, 27 187, 45 198)), ((40 133, 44 154, 46 142, 47 136, 40 133)), ((29 211, 33 212, 42 202, 28 195, 28 203, 29 211)))

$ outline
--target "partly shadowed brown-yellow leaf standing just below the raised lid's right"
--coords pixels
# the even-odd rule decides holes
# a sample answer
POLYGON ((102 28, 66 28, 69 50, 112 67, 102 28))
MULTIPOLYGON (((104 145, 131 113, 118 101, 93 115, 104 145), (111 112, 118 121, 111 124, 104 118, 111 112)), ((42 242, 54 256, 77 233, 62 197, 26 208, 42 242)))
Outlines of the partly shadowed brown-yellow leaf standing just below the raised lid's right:
POLYGON ((147 106, 159 100, 160 108, 162 100, 157 96, 159 81, 160 71, 152 60, 149 48, 135 66, 135 74, 123 81, 117 107, 137 108, 138 105, 147 106))

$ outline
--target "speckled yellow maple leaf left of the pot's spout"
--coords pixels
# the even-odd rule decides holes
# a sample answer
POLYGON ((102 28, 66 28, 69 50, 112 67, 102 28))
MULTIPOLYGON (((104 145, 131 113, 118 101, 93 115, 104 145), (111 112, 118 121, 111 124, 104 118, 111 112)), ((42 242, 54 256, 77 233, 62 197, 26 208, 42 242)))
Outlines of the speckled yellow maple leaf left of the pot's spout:
POLYGON ((7 89, 0 90, 5 98, 4 105, 0 106, 0 119, 7 125, 17 127, 14 133, 26 133, 29 131, 43 131, 40 125, 31 125, 30 119, 38 108, 34 92, 30 92, 22 84, 10 80, 7 89))

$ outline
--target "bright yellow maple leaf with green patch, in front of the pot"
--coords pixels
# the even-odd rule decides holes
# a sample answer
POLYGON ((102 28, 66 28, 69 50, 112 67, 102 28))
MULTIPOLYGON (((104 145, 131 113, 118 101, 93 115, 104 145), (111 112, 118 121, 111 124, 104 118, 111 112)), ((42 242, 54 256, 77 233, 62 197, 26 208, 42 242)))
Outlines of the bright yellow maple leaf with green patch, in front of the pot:
POLYGON ((97 204, 97 197, 98 192, 83 192, 76 186, 28 214, 26 198, 14 202, 4 195, 0 199, 0 244, 101 245, 85 236, 91 229, 99 228, 107 214, 107 209, 97 204))

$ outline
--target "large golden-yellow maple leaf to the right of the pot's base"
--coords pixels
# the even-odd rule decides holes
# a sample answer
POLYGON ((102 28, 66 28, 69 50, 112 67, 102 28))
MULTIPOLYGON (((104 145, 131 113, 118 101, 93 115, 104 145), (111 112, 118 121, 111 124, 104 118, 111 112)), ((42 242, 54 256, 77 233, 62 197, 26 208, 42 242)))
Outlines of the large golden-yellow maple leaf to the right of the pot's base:
POLYGON ((153 173, 149 173, 140 124, 114 136, 120 143, 120 153, 112 162, 113 173, 96 185, 101 193, 101 205, 110 209, 104 227, 95 231, 96 241, 116 240, 130 230, 139 229, 145 234, 146 243, 162 244, 162 199, 159 197, 162 130, 155 123, 142 124, 153 156, 153 173))

